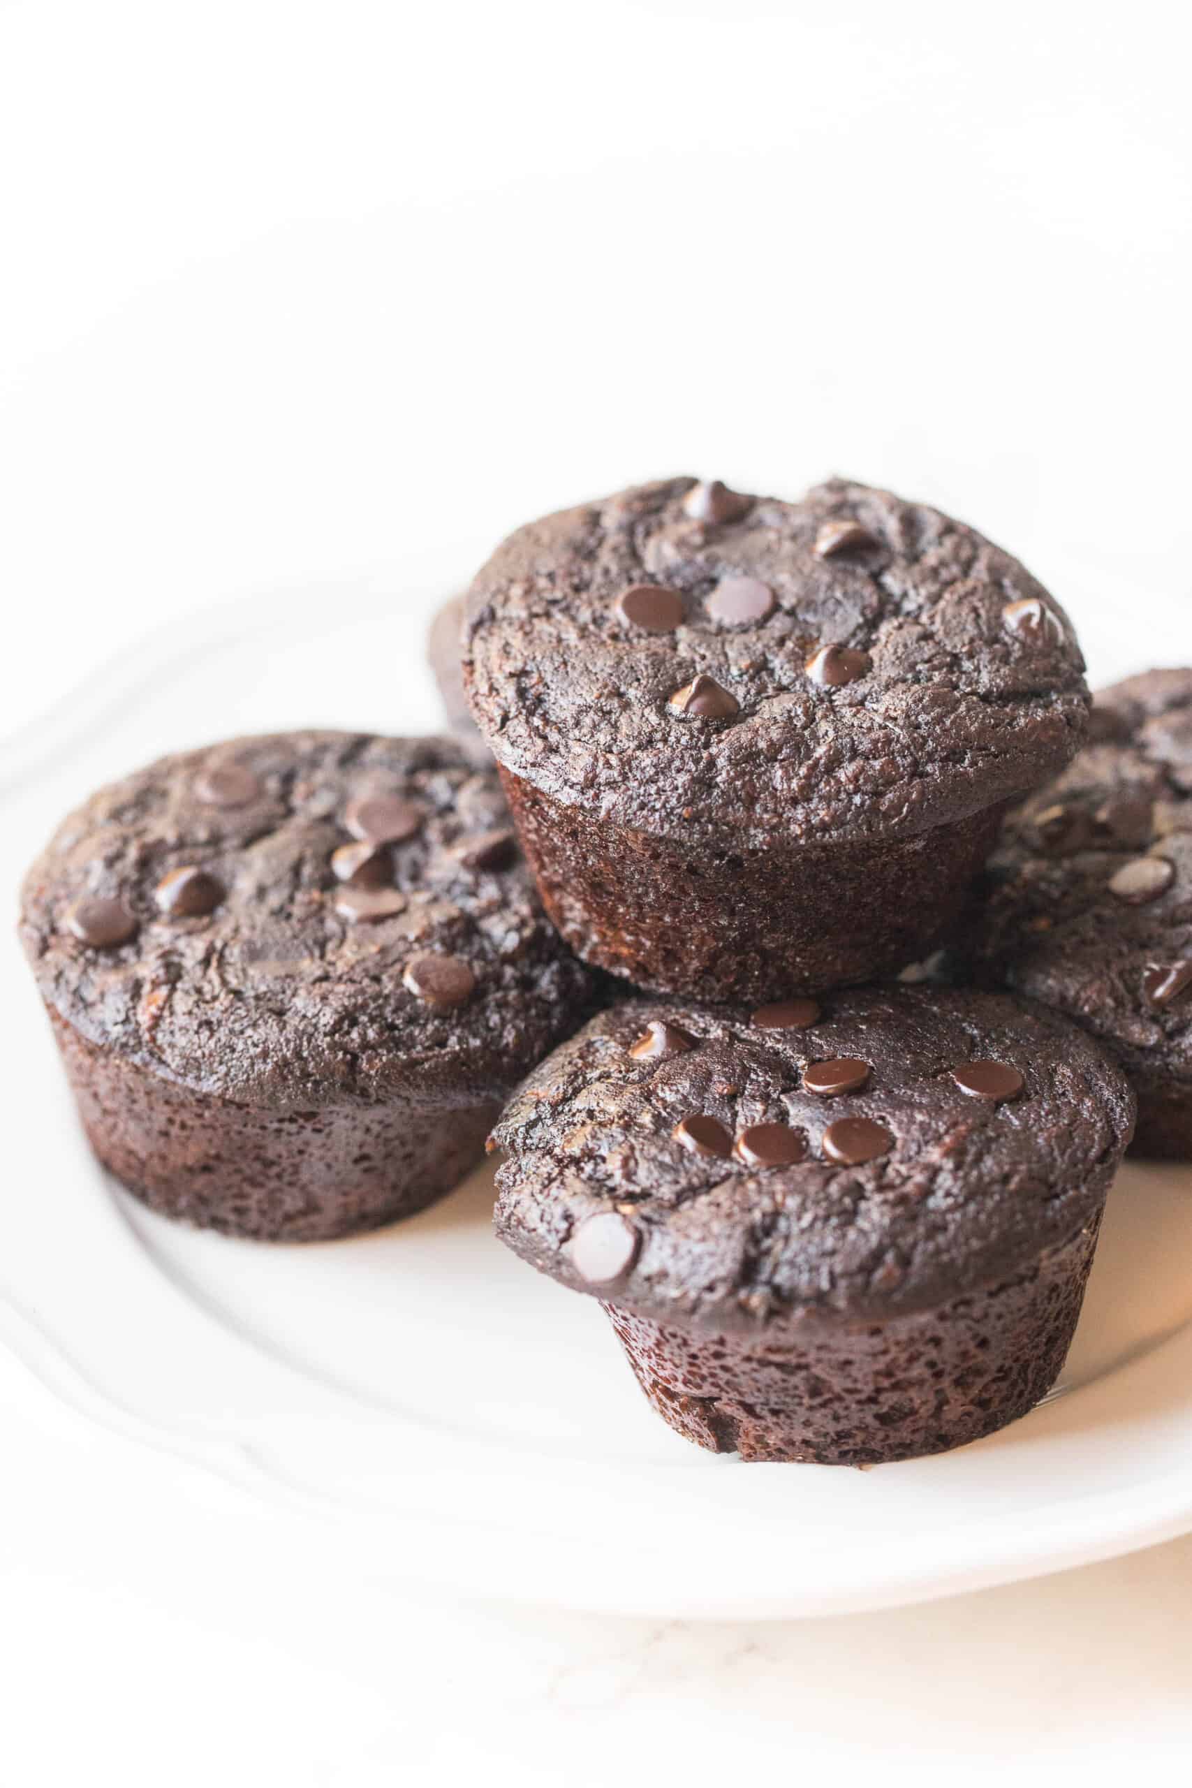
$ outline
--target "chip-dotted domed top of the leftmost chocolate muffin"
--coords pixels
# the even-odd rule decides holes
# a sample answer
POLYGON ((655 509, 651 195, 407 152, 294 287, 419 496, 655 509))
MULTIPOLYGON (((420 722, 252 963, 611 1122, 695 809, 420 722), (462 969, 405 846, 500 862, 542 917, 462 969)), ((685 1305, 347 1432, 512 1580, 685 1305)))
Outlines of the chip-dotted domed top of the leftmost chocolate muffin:
POLYGON ((495 771, 449 738, 304 731, 161 758, 59 826, 21 937, 91 1042, 277 1107, 499 1098, 590 987, 495 771))

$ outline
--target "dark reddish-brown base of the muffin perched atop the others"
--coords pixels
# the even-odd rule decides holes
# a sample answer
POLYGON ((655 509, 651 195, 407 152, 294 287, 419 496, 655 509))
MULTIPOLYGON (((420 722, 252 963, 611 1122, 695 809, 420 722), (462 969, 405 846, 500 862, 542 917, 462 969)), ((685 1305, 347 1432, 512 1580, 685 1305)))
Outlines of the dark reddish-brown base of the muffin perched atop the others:
POLYGON ((697 999, 776 999, 924 955, 961 908, 1004 803, 915 839, 684 849, 593 821, 500 767, 543 905, 583 962, 697 999))

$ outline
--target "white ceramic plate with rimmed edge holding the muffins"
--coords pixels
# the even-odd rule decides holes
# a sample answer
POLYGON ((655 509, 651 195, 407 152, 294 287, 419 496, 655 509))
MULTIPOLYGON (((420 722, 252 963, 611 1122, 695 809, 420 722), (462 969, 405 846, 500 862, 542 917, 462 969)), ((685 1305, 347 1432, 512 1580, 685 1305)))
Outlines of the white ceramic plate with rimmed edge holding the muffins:
MULTIPOLYGON (((1076 592, 1074 595, 1070 592, 1076 592)), ((1094 676, 1124 597, 1074 572, 1094 676), (1090 594, 1092 592, 1092 594, 1090 594)), ((1176 604, 1129 592, 1160 660, 1176 604)), ((91 787, 238 731, 422 731, 432 595, 347 579, 147 645, 0 755, 9 885, 91 787)), ((359 1241, 175 1228, 97 1169, 13 948, 0 1337, 80 1413, 309 1511, 311 1543, 465 1591, 658 1616, 820 1615, 1058 1570, 1192 1527, 1192 1171, 1126 1168, 1060 1391, 869 1472, 743 1466, 670 1434, 597 1305, 490 1234, 484 1171, 359 1241)))

